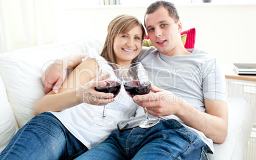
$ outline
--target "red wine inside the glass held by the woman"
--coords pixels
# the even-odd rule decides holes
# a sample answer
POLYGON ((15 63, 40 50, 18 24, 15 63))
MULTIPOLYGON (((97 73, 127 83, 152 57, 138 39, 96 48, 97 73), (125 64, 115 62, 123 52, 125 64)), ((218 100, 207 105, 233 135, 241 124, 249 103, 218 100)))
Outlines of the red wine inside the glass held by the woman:
POLYGON ((118 95, 121 89, 121 83, 116 82, 116 81, 105 81, 106 86, 100 86, 96 87, 96 91, 101 91, 104 93, 113 93, 114 97, 118 95))

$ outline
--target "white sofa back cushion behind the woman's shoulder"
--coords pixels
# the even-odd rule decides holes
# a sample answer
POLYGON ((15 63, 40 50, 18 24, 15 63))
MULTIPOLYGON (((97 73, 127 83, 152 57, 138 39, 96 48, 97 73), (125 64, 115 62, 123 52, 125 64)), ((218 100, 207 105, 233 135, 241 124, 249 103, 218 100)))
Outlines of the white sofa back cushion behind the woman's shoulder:
POLYGON ((100 53, 104 39, 101 34, 76 41, 48 44, 0 54, 0 75, 3 77, 8 101, 19 128, 34 117, 34 105, 39 98, 45 95, 41 81, 43 70, 53 60, 86 52, 89 47, 95 47, 100 53))

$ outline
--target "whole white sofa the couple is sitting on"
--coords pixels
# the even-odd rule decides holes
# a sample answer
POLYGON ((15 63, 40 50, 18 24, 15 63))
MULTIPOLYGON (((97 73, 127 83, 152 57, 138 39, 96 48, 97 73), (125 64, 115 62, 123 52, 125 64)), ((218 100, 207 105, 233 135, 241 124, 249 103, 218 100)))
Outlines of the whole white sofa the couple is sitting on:
MULTIPOLYGON (((85 52, 89 46, 101 53, 104 39, 104 35, 94 35, 0 54, 0 152, 34 116, 34 104, 45 95, 41 72, 56 58, 85 52)), ((252 109, 243 98, 228 98, 228 105, 229 134, 223 144, 215 144, 210 159, 243 159, 252 130, 252 109)))

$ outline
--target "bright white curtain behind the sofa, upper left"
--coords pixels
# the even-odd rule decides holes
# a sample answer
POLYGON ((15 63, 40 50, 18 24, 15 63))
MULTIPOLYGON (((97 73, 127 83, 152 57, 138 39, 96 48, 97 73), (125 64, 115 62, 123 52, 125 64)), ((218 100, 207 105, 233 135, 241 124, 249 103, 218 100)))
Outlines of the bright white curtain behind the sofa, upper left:
POLYGON ((0 0, 0 53, 57 41, 57 0, 0 0))

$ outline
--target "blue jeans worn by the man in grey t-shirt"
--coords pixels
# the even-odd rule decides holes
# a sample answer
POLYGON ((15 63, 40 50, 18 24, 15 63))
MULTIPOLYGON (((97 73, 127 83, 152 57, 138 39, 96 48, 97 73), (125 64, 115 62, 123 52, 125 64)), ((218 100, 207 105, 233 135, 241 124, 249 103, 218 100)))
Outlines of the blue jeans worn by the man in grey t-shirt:
POLYGON ((103 143, 76 159, 207 159, 206 144, 178 121, 152 128, 112 131, 103 143))

